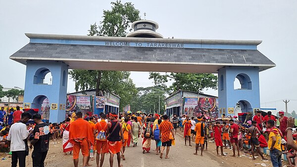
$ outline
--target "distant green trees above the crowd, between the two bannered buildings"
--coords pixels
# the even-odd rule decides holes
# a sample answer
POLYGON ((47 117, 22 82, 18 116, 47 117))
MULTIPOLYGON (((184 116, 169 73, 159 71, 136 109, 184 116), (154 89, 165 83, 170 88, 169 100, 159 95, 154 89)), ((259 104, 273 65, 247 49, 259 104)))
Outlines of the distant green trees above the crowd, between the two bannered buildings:
POLYGON ((138 94, 131 103, 131 111, 143 111, 157 113, 159 110, 160 96, 160 114, 164 114, 165 91, 160 86, 138 87, 138 94))

